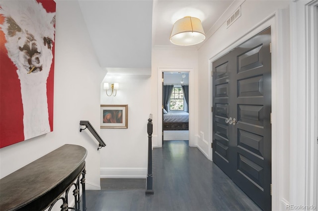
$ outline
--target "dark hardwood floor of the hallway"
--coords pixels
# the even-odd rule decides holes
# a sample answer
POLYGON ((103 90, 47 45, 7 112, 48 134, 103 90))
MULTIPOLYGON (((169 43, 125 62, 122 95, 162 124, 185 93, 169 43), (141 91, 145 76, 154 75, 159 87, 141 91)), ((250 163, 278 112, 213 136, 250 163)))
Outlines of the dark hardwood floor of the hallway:
POLYGON ((188 141, 153 150, 154 195, 145 189, 86 191, 87 211, 259 211, 233 181, 188 141))

